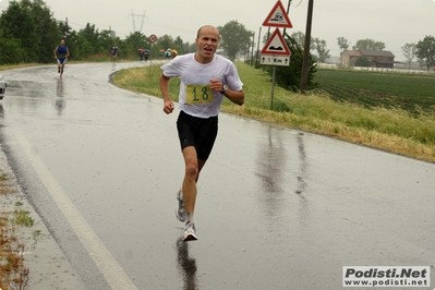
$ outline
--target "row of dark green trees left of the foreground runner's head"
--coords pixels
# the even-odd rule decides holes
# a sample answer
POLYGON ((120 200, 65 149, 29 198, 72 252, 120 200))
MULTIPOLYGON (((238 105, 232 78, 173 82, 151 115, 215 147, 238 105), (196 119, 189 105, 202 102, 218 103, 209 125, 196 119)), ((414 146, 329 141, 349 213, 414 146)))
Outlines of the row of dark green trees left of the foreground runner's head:
POLYGON ((158 50, 167 48, 179 53, 196 49, 194 44, 169 35, 160 36, 153 47, 148 37, 140 32, 121 39, 90 23, 75 31, 65 21, 56 20, 43 0, 21 0, 11 1, 0 15, 0 64, 52 62, 53 50, 61 39, 65 40, 73 60, 108 57, 113 45, 119 47, 119 56, 124 58, 136 58, 138 48, 150 49, 156 56, 158 50))

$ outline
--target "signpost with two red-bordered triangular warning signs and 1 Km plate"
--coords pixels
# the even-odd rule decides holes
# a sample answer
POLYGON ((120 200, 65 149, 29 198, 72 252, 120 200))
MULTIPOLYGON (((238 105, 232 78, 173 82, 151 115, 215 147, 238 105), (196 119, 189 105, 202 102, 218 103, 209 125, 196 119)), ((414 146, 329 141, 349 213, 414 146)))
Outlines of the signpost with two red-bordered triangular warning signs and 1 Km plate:
POLYGON ((290 65, 291 51, 287 46, 279 28, 291 28, 293 25, 287 15, 286 9, 283 8, 280 0, 277 1, 275 7, 271 9, 263 26, 276 27, 274 34, 268 39, 267 44, 263 47, 259 63, 266 65, 273 65, 271 73, 271 97, 270 97, 270 110, 274 107, 274 92, 275 92, 275 75, 276 65, 290 65))

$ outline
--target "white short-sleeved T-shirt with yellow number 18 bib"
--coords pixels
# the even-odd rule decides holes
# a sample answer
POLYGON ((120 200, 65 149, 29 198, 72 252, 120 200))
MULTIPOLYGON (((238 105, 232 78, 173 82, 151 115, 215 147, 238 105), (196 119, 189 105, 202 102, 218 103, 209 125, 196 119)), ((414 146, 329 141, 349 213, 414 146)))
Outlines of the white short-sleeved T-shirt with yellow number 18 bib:
POLYGON ((241 90, 243 83, 230 60, 215 55, 210 63, 203 64, 194 56, 178 56, 160 69, 166 77, 181 80, 179 106, 182 111, 198 118, 218 116, 225 96, 210 89, 210 80, 219 80, 232 90, 241 90))

